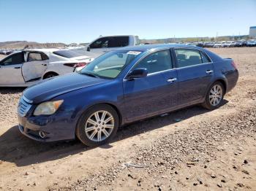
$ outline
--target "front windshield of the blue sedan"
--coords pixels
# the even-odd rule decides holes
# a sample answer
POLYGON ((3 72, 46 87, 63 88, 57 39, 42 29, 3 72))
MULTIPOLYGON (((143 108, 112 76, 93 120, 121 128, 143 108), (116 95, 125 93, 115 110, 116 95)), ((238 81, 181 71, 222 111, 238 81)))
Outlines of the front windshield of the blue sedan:
POLYGON ((124 67, 131 63, 140 53, 140 51, 129 50, 108 52, 89 63, 89 65, 80 71, 80 74, 114 79, 120 74, 124 67))

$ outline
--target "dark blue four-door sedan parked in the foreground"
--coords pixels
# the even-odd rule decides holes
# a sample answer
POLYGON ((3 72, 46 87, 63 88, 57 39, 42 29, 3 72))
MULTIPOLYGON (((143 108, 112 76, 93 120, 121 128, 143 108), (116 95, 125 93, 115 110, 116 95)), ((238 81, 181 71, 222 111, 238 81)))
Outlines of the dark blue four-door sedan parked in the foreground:
POLYGON ((238 81, 236 64, 179 44, 124 47, 79 73, 46 79, 23 92, 19 129, 36 141, 105 144, 118 127, 194 104, 217 109, 238 81))

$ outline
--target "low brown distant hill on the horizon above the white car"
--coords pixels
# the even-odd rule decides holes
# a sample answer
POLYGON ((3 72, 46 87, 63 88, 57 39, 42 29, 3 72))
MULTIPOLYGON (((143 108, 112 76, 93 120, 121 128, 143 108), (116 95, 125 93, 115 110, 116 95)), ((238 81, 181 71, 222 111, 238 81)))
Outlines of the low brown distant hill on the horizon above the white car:
POLYGON ((23 49, 28 48, 53 48, 53 47, 64 47, 64 43, 38 43, 38 42, 27 42, 27 41, 9 41, 0 42, 0 48, 3 49, 23 49))

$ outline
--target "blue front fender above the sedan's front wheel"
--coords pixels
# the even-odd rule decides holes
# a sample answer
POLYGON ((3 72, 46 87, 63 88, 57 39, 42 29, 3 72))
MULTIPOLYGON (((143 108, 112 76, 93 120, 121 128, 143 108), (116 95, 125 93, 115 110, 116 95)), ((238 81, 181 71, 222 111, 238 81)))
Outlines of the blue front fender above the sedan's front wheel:
MULTIPOLYGON (((109 104, 113 106, 119 116, 124 113, 124 95, 122 86, 119 85, 117 79, 110 82, 108 85, 96 85, 84 87, 79 90, 74 90, 69 93, 64 93, 54 99, 64 99, 64 107, 72 110, 70 121, 75 132, 75 127, 80 116, 86 112, 91 106, 97 104, 109 104), (103 93, 102 93, 103 92, 103 93)), ((120 119, 123 122, 121 117, 120 119)))

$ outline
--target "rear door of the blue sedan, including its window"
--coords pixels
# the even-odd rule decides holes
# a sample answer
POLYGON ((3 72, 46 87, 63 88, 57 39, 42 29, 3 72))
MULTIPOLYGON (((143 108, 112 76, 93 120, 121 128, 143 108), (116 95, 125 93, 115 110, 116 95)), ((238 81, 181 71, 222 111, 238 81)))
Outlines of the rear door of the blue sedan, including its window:
POLYGON ((174 49, 178 72, 178 102, 180 106, 203 101, 214 78, 210 59, 200 50, 174 49))

